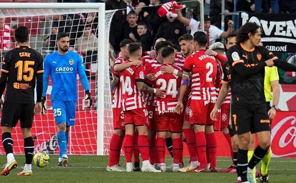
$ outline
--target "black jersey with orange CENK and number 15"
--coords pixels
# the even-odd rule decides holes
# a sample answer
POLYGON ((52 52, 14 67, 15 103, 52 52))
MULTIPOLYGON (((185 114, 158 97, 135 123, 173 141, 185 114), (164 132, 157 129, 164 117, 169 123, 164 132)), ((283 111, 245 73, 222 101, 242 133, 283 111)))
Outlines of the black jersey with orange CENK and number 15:
POLYGON ((2 60, 0 96, 7 81, 5 101, 20 104, 32 103, 37 83, 37 102, 41 102, 42 76, 41 54, 28 46, 18 46, 8 51, 2 60))

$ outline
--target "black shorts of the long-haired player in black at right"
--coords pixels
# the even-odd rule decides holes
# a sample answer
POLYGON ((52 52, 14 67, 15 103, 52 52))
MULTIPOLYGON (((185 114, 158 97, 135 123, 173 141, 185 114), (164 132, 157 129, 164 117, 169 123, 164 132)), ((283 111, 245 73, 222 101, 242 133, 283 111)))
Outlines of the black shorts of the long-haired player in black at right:
POLYGON ((237 135, 247 132, 270 131, 270 120, 267 116, 265 103, 232 103, 231 110, 231 117, 237 135))

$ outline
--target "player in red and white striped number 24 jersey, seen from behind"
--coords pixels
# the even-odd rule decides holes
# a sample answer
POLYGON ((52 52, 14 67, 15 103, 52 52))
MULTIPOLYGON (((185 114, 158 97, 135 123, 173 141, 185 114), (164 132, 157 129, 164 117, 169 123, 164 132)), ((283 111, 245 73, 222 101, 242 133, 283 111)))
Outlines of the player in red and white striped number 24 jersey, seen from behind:
MULTIPOLYGON (((181 71, 174 66, 175 50, 172 47, 165 47, 161 51, 163 58, 162 65, 171 65, 175 69, 181 71)), ((154 68, 155 73, 154 86, 156 88, 166 90, 164 97, 157 97, 155 102, 155 123, 157 131, 156 153, 160 163, 160 170, 166 171, 165 165, 165 138, 167 132, 171 132, 173 141, 173 172, 178 172, 180 167, 180 159, 182 156, 182 120, 180 114, 176 113, 176 104, 178 101, 178 91, 181 83, 181 77, 173 73, 164 73, 161 66, 154 68)))

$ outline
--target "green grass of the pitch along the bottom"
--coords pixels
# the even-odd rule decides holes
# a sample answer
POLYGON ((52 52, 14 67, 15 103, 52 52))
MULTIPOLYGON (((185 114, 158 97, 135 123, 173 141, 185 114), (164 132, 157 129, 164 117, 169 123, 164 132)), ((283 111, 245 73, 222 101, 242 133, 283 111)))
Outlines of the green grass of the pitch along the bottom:
MULTIPOLYGON (((9 176, 1 176, 0 183, 162 183, 162 182, 194 182, 194 183, 234 183, 236 174, 230 173, 142 173, 142 172, 107 172, 108 156, 70 155, 73 167, 58 167, 57 155, 49 155, 50 164, 45 168, 33 167, 33 176, 18 177, 16 174, 23 170, 24 155, 16 155, 19 167, 12 170, 9 176)), ((188 158, 185 157, 185 162, 188 158)), ((167 165, 172 158, 166 158, 167 165)), ((2 168, 6 163, 5 155, 0 155, 2 168)), ((124 157, 121 164, 125 165, 124 157)), ((185 163, 186 164, 186 163, 185 163)), ((218 158, 218 167, 227 168, 231 164, 230 158, 218 158)), ((269 180, 271 183, 293 183, 296 180, 296 158, 272 158, 269 166, 269 180)), ((2 170, 2 169, 1 169, 2 170)), ((258 181, 259 183, 259 181, 258 181)))

